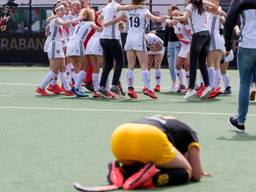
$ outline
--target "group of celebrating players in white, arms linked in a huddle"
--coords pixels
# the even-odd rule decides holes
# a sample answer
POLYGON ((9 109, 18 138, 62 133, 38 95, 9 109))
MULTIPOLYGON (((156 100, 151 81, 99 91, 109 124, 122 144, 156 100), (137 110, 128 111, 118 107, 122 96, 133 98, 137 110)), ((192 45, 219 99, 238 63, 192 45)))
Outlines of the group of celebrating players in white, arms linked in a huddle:
MULTIPOLYGON (((154 31, 146 33, 148 20, 165 23, 178 38, 178 46, 172 54, 167 45, 171 90, 186 93, 184 99, 194 95, 214 98, 221 93, 223 77, 226 94, 231 94, 228 62, 234 55, 224 56, 223 23, 226 13, 219 7, 219 0, 204 1, 204 7, 188 5, 181 13, 178 7, 169 8, 169 16, 154 16, 144 5, 144 0, 132 0, 131 5, 121 5, 121 0, 109 0, 99 11, 89 7, 89 1, 61 0, 53 7, 54 15, 46 21, 45 52, 48 53, 50 71, 36 91, 48 96, 64 92, 66 96, 88 96, 85 85, 94 98, 119 98, 124 95, 120 76, 124 65, 124 53, 120 32, 128 22, 124 50, 127 54, 128 95, 137 99, 134 89, 136 58, 142 70, 143 93, 157 99, 160 91, 161 63, 164 43, 154 31), (203 11, 203 9, 207 11, 203 11), (220 30, 222 28, 222 30, 220 30), (207 65, 206 65, 207 63, 207 65), (196 79, 199 65, 201 78, 196 79), (155 68, 156 86, 151 87, 150 69, 155 68), (100 68, 103 69, 100 78, 100 68), (112 86, 109 73, 114 69, 112 86), (186 71, 186 72, 185 72, 186 71), (62 87, 58 86, 57 79, 62 87), (176 78, 179 84, 176 83, 176 78)), ((189 4, 189 1, 186 2, 189 4)), ((168 41, 168 39, 167 39, 168 41)))

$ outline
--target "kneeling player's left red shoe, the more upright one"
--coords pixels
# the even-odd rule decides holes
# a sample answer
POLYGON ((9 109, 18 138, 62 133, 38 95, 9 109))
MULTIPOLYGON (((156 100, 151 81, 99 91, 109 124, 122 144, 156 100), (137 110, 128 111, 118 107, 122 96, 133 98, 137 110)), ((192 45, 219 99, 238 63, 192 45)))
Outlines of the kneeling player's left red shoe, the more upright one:
POLYGON ((124 184, 124 176, 121 165, 118 161, 112 161, 108 164, 107 180, 111 185, 122 187, 124 184))

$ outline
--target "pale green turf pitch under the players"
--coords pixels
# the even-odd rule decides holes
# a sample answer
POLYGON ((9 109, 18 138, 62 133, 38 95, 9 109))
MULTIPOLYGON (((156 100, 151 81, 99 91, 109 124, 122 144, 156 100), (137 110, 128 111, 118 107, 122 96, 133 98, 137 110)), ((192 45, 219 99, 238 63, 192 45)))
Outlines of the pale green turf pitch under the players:
MULTIPOLYGON (((0 68, 1 192, 72 192, 75 181, 106 184, 107 163, 113 160, 111 132, 121 123, 155 114, 176 116, 197 131, 204 168, 213 175, 159 191, 256 191, 256 104, 250 104, 246 133, 233 131, 227 122, 237 110, 237 72, 231 71, 232 96, 190 102, 167 94, 167 70, 157 101, 141 93, 138 101, 42 98, 34 89, 46 72, 47 68, 0 68)), ((122 79, 125 82, 125 73, 122 79)), ((142 86, 139 70, 136 82, 142 86)))

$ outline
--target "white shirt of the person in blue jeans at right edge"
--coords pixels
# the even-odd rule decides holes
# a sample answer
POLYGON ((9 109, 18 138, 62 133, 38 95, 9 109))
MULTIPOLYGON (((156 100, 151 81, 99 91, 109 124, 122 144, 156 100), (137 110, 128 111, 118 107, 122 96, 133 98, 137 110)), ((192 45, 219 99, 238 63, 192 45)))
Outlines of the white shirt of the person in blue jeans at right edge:
POLYGON ((243 11, 241 14, 241 23, 239 46, 256 49, 256 9, 243 11))

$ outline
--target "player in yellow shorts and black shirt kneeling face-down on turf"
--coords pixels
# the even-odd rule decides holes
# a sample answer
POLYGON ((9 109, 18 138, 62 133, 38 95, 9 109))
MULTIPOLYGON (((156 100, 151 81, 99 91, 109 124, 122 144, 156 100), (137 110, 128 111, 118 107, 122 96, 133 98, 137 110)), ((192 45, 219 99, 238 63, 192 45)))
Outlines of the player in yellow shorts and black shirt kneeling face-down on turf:
POLYGON ((122 124, 111 144, 117 161, 109 166, 108 180, 125 190, 185 184, 205 175, 196 132, 174 117, 122 124))

